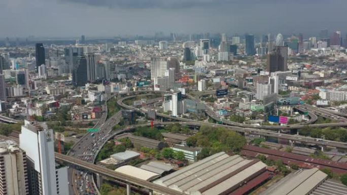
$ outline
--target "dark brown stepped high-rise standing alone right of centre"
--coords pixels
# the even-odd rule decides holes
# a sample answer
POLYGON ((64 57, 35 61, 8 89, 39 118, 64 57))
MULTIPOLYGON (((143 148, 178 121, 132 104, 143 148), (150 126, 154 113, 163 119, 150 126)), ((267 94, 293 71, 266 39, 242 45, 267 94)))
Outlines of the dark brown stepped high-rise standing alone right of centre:
POLYGON ((282 56, 280 48, 281 47, 276 47, 273 52, 267 55, 267 71, 275 72, 287 70, 287 66, 285 66, 285 58, 282 56))

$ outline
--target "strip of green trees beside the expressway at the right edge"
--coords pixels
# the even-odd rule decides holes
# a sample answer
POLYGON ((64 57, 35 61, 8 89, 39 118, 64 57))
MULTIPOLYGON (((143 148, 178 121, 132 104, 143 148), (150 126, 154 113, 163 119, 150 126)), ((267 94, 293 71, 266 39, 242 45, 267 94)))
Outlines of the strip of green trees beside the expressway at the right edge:
POLYGON ((299 130, 299 134, 313 138, 326 139, 331 141, 347 141, 347 129, 340 127, 310 128, 308 126, 299 130))

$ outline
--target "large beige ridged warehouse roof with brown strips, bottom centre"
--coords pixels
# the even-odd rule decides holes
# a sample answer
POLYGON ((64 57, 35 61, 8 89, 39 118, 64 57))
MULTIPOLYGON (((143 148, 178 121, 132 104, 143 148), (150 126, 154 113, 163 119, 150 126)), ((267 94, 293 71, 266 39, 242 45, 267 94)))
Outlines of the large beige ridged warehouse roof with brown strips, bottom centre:
POLYGON ((188 194, 218 195, 230 193, 265 170, 266 165, 258 160, 219 152, 154 183, 188 194))

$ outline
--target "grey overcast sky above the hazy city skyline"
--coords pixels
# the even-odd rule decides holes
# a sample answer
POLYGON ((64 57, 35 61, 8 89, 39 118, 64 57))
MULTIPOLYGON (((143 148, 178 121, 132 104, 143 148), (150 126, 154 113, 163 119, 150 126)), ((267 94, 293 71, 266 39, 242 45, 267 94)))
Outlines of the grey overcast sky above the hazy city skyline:
POLYGON ((0 37, 347 33, 346 0, 0 0, 0 37))

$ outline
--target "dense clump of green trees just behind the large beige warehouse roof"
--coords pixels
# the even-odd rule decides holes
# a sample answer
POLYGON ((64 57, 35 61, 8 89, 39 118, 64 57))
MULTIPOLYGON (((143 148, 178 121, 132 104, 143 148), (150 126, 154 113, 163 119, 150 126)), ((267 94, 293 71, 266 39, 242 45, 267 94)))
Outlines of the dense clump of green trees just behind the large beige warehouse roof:
POLYGON ((187 139, 188 146, 202 147, 198 159, 220 151, 238 152, 246 144, 245 137, 225 128, 201 126, 200 131, 187 139))

